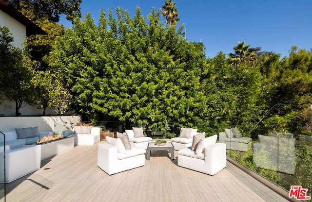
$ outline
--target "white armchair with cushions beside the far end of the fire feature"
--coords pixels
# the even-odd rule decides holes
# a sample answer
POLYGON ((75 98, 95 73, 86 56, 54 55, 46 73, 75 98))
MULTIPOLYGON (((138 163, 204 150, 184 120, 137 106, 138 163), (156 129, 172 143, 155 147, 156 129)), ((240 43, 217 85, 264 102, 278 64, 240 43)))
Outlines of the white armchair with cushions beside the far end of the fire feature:
POLYGON ((75 126, 73 128, 75 145, 94 145, 101 140, 101 128, 92 126, 75 126))

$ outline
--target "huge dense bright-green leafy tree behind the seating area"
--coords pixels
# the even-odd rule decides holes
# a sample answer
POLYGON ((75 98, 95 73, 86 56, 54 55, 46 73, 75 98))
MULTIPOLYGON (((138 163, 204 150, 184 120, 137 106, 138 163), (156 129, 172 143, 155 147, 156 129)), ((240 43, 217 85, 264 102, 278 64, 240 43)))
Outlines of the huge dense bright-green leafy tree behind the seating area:
POLYGON ((59 38, 50 64, 68 84, 77 112, 158 129, 208 121, 214 106, 200 84, 203 44, 186 42, 183 27, 164 27, 160 14, 153 9, 147 21, 138 7, 134 18, 117 8, 117 18, 101 12, 98 26, 87 15, 59 38))

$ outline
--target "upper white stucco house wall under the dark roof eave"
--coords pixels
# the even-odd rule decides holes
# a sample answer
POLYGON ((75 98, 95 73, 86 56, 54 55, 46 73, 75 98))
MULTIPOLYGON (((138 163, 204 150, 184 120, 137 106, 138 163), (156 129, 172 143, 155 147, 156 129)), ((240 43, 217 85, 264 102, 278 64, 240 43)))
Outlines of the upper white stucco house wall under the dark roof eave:
POLYGON ((5 25, 10 29, 10 32, 12 32, 11 36, 14 37, 12 46, 17 46, 20 49, 22 49, 22 45, 26 41, 26 27, 1 10, 0 10, 0 25, 1 27, 5 25))

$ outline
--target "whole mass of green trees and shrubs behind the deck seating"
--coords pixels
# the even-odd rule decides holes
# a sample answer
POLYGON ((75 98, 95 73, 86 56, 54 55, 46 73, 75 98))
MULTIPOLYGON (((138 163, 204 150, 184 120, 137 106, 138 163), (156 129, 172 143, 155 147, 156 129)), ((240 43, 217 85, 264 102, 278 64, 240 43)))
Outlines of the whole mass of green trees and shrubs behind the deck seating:
POLYGON ((101 10, 98 25, 87 14, 58 38, 49 64, 84 119, 211 134, 236 125, 252 137, 260 128, 311 131, 311 51, 292 47, 281 60, 258 52, 232 66, 222 52, 206 58, 204 44, 186 41, 183 26, 164 25, 160 14, 101 10))

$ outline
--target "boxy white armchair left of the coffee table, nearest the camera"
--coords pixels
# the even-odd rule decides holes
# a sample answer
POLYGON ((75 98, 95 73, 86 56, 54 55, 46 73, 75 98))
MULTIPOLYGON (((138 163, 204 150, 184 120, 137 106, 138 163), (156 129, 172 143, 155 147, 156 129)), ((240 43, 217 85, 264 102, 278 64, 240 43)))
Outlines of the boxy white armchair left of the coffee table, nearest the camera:
POLYGON ((98 144, 98 167, 109 175, 141 167, 145 165, 145 153, 146 150, 134 145, 131 145, 131 150, 122 153, 118 152, 117 146, 101 143, 98 144))

